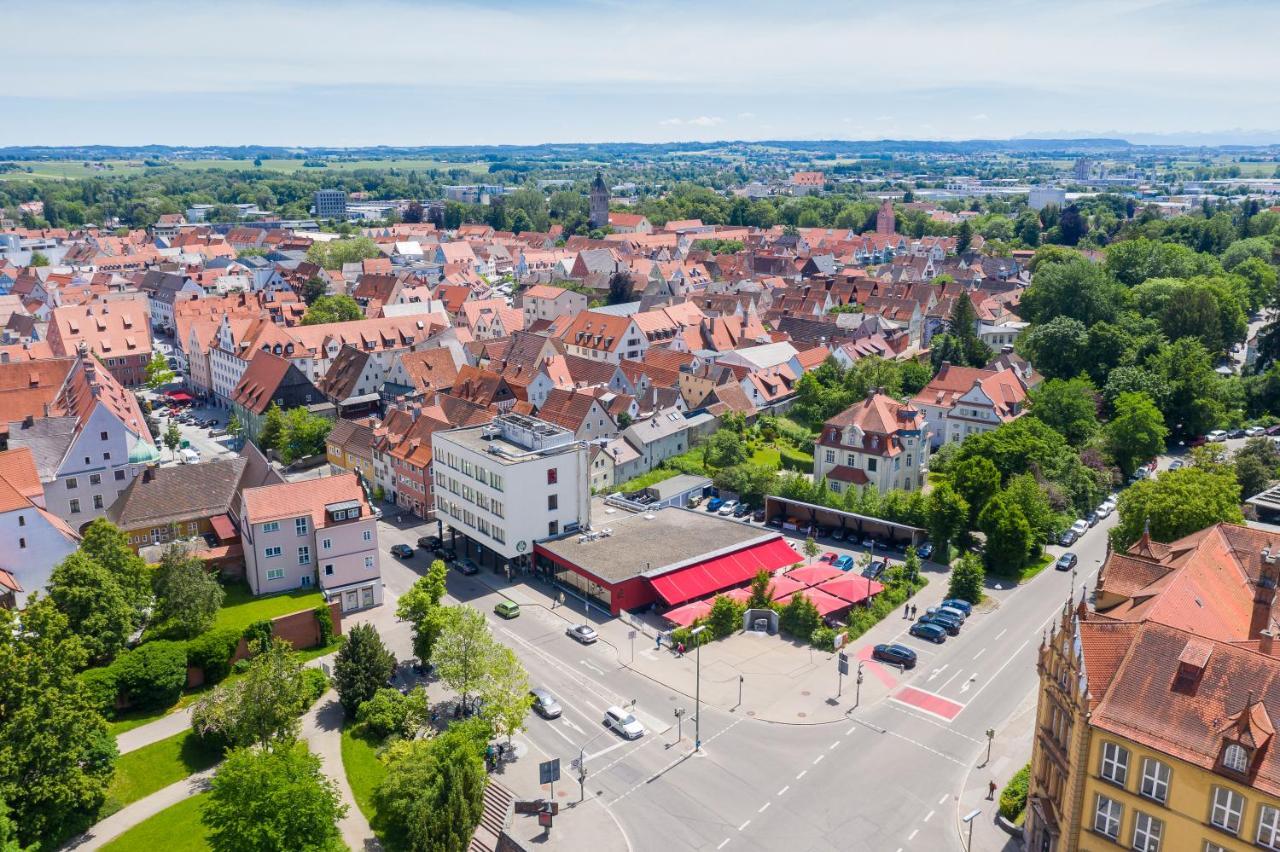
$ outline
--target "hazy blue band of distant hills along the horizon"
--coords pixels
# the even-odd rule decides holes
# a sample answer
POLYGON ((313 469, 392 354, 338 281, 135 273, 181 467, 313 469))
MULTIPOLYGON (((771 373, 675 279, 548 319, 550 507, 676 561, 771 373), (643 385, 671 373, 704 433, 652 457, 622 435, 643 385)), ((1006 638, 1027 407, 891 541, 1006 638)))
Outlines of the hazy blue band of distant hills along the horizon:
MULTIPOLYGON (((0 160, 138 160, 138 159, 410 159, 430 157, 447 160, 613 160, 622 157, 664 156, 690 151, 768 152, 814 155, 814 156, 874 156, 874 155, 980 155, 980 154, 1023 154, 1033 156, 1052 155, 1135 155, 1135 154, 1176 154, 1212 152, 1224 154, 1277 154, 1280 142, 1265 142, 1268 134, 1258 130, 1239 130, 1224 134, 1143 134, 1142 142, 1124 138, 1083 137, 1083 138, 1036 138, 1016 139, 964 139, 964 141, 920 141, 920 139, 759 139, 724 142, 599 142, 599 143, 547 143, 547 145, 475 145, 475 146, 421 146, 421 147, 357 147, 337 148, 326 146, 278 147, 278 146, 169 146, 169 145, 83 145, 83 146, 10 146, 0 147, 0 160), (1201 138, 1248 138, 1253 143, 1204 145, 1201 138)), ((1270 138, 1276 138, 1270 134, 1270 138)))

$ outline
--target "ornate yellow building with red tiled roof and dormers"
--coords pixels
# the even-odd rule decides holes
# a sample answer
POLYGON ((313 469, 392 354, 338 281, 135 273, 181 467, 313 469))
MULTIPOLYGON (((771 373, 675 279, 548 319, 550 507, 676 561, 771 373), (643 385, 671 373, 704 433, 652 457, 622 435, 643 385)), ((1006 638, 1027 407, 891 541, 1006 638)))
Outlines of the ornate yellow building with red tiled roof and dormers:
POLYGON ((1107 558, 1042 641, 1034 852, 1280 849, 1280 536, 1217 525, 1107 558))

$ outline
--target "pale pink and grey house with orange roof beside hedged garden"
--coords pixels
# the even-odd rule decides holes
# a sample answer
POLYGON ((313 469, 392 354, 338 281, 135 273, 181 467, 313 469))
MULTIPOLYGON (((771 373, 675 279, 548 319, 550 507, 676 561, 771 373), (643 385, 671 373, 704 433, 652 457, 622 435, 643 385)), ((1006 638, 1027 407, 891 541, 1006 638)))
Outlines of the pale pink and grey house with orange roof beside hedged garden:
POLYGON ((378 521, 355 473, 244 489, 243 507, 255 595, 319 587, 344 613, 383 603, 378 521))

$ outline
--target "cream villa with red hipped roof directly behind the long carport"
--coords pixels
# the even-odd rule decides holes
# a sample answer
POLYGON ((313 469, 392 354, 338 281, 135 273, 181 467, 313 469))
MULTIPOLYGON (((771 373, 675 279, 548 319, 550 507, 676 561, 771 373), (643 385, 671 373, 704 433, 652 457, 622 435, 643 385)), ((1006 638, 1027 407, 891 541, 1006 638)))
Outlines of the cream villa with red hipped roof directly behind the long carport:
POLYGON ((929 461, 924 414, 878 390, 822 426, 813 478, 832 491, 874 487, 881 494, 924 487, 929 461))

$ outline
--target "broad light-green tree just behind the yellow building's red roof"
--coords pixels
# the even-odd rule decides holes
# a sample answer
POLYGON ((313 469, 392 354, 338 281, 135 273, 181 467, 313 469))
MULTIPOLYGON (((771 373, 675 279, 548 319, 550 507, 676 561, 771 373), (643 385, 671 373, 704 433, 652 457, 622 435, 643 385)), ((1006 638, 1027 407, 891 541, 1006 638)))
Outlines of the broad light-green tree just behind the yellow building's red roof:
POLYGON ((1176 541, 1219 522, 1244 521, 1235 476, 1201 467, 1165 471, 1130 485, 1120 494, 1117 513, 1111 542, 1119 550, 1137 541, 1148 523, 1156 541, 1176 541))

